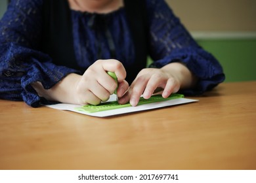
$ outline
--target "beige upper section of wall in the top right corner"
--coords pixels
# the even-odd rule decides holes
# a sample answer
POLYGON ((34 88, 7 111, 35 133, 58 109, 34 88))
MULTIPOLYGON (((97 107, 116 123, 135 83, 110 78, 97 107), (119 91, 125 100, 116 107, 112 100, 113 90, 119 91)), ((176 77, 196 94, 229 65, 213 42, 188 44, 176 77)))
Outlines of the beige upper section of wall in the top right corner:
POLYGON ((165 0, 189 31, 256 31, 256 0, 165 0))

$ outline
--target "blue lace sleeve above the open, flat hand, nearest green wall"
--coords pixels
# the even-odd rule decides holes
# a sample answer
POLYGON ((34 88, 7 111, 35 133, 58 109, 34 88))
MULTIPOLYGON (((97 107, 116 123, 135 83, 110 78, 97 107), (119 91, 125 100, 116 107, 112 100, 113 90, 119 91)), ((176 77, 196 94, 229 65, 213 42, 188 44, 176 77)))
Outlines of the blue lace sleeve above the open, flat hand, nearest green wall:
POLYGON ((154 63, 150 67, 181 61, 199 78, 194 89, 180 91, 187 95, 203 93, 224 80, 219 62, 205 52, 181 24, 171 8, 163 0, 147 0, 150 25, 150 56, 154 63))

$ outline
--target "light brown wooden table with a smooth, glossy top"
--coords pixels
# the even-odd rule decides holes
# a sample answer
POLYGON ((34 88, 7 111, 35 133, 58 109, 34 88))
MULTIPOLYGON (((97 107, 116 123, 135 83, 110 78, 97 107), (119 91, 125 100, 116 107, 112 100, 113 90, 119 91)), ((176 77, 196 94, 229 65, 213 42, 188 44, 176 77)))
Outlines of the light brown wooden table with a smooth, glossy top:
POLYGON ((256 169, 256 82, 95 118, 0 100, 0 169, 256 169))

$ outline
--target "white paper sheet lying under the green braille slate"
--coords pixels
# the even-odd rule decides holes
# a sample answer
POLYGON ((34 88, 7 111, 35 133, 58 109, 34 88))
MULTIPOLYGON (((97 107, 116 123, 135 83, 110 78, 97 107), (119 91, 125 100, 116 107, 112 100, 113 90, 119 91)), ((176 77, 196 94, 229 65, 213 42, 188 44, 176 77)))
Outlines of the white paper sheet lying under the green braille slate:
MULTIPOLYGON (((111 95, 110 99, 108 101, 115 101, 116 100, 116 95, 111 95)), ((96 116, 96 117, 107 117, 107 116, 114 116, 117 114, 126 114, 129 112, 138 112, 142 110, 149 110, 153 108, 160 108, 160 107, 167 107, 167 106, 172 106, 172 105, 180 105, 184 103, 192 103, 198 101, 196 99, 186 99, 186 98, 179 98, 179 99, 171 99, 168 101, 160 101, 156 103, 148 103, 144 105, 139 105, 136 107, 124 107, 124 108, 117 108, 113 110, 105 110, 105 111, 100 111, 100 112, 83 112, 76 110, 75 108, 81 107, 81 105, 72 105, 72 104, 66 104, 66 103, 59 103, 56 105, 47 105, 47 107, 51 108, 56 108, 59 110, 70 110, 73 112, 77 112, 80 114, 86 114, 89 116, 96 116)))

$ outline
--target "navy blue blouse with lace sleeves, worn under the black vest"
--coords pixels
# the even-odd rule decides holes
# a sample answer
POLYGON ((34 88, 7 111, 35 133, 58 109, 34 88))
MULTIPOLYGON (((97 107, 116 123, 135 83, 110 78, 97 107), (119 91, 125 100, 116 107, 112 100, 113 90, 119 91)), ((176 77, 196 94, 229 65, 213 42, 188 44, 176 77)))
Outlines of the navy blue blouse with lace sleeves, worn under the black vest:
MULTIPOLYGON (((12 0, 0 22, 0 98, 25 101, 38 107, 45 100, 32 88, 41 82, 49 89, 74 69, 54 65, 51 58, 39 51, 43 0, 12 0)), ((185 63, 198 76, 196 88, 180 93, 195 95, 217 86, 224 80, 219 62, 192 39, 179 18, 163 0, 146 0, 149 54, 151 67, 163 67, 173 61, 185 63)), ((87 69, 97 58, 111 58, 111 50, 103 29, 91 29, 88 24, 94 14, 72 10, 74 52, 77 65, 87 69), (100 36, 98 36, 100 35, 100 36), (95 42, 98 42, 96 45, 95 42)), ((116 48, 116 59, 124 66, 133 63, 135 51, 124 8, 104 14, 116 48)), ((100 24, 100 22, 99 22, 100 24)))

